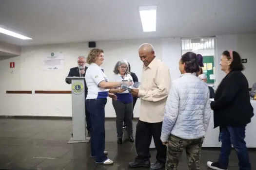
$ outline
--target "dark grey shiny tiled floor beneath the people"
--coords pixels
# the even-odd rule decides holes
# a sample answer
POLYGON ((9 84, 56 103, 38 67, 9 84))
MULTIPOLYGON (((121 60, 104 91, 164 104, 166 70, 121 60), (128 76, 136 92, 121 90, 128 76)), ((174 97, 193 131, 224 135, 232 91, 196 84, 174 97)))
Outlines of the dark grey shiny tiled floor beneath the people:
MULTIPOLYGON (((134 129, 136 121, 134 122, 134 129)), ((114 165, 96 165, 89 157, 88 143, 68 144, 72 133, 71 120, 0 119, 0 169, 10 170, 127 170, 133 161, 135 145, 117 145, 114 120, 106 121, 106 150, 114 165)), ((134 131, 135 133, 135 131, 134 131)), ((208 160, 217 160, 218 149, 204 149, 201 170, 207 170, 208 160)), ((151 161, 156 151, 151 151, 151 161)), ((252 170, 256 170, 256 151, 250 150, 252 170)), ((236 153, 230 156, 229 170, 238 170, 236 153)), ((143 169, 139 169, 143 170, 143 169)), ((178 170, 188 170, 185 154, 178 170)))

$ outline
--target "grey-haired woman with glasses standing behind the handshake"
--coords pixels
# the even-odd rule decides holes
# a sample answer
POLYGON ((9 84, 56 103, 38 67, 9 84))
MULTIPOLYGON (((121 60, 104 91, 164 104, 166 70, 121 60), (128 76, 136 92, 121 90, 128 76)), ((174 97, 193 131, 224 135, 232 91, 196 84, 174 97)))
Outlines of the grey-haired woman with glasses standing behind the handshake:
MULTIPOLYGON (((115 75, 113 81, 116 82, 132 82, 133 78, 129 73, 128 62, 126 60, 120 60, 117 62, 114 68, 115 75)), ((114 109, 116 111, 116 127, 118 134, 118 144, 122 144, 123 137, 123 121, 125 120, 126 130, 129 136, 130 142, 134 142, 133 138, 133 97, 128 90, 119 91, 117 89, 110 89, 110 93, 115 93, 117 100, 112 100, 114 109)))

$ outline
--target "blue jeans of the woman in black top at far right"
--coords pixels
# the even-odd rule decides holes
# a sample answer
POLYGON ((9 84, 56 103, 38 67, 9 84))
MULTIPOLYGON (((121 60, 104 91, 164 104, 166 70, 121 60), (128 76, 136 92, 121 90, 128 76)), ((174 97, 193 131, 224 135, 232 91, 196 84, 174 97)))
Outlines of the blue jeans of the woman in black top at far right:
POLYGON ((229 155, 232 150, 232 145, 236 150, 238 157, 239 170, 251 170, 251 164, 249 162, 249 153, 246 148, 245 138, 245 126, 227 128, 221 128, 219 139, 221 141, 220 155, 218 163, 222 168, 228 168, 229 155))

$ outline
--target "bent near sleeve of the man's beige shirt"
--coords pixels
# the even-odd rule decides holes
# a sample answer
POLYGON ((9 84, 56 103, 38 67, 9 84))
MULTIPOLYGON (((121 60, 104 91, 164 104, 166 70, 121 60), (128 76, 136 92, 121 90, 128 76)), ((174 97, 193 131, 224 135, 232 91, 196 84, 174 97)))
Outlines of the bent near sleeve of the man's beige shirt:
POLYGON ((144 101, 158 102, 168 96, 171 86, 170 70, 167 66, 159 67, 156 74, 157 89, 142 90, 139 89, 138 97, 144 101))

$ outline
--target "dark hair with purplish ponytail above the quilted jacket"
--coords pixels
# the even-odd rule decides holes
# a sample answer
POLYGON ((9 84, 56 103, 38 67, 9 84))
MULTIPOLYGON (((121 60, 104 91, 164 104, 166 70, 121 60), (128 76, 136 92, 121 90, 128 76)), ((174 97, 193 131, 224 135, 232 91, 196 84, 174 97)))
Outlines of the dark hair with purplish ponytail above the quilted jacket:
POLYGON ((181 62, 185 63, 185 71, 187 73, 197 73, 199 66, 203 67, 203 57, 194 52, 186 52, 181 56, 181 62))

